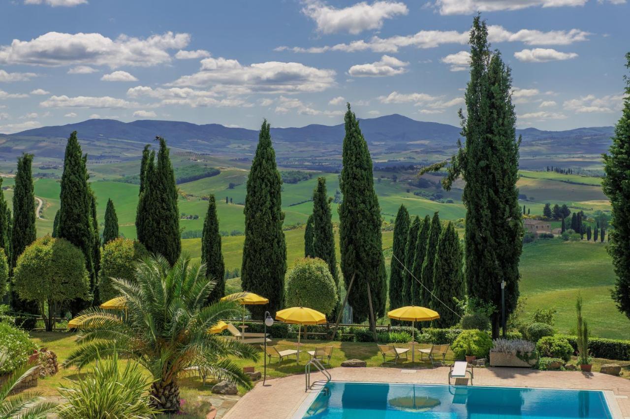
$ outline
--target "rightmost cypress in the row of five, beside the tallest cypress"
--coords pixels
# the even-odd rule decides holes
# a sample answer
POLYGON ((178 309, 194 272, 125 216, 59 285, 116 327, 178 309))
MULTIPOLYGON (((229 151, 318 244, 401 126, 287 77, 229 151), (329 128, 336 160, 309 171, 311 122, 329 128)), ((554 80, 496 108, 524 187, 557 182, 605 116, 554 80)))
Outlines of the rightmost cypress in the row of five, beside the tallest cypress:
POLYGON ((462 247, 455 227, 449 221, 440 233, 437 254, 433 265, 433 295, 432 308, 439 311, 440 318, 435 320, 435 327, 452 327, 459 321, 459 316, 442 306, 442 301, 451 308, 454 299, 463 299, 465 294, 464 272, 462 271, 462 247), (440 299, 438 301, 437 299, 440 299))

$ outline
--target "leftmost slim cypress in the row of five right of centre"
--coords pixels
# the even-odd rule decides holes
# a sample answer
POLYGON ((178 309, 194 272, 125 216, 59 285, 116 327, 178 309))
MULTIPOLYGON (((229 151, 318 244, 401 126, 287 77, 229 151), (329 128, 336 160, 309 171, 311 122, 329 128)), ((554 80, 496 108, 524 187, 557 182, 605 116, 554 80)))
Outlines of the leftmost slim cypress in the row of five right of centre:
POLYGON ((394 224, 394 241, 392 243, 392 260, 389 265, 389 309, 403 306, 404 293, 404 262, 405 250, 407 247, 407 236, 409 235, 409 213, 404 205, 398 208, 396 221, 394 224), (398 260, 396 260, 398 259, 398 260), (399 262, 400 260, 400 262, 399 262))

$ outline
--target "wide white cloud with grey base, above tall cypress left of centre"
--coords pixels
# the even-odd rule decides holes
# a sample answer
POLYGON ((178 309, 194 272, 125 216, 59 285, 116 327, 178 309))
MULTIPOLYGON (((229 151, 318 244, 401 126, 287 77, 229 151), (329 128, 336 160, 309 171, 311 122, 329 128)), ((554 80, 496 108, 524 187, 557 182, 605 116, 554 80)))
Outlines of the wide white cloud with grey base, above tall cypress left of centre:
POLYGON ((170 86, 212 86, 228 92, 317 92, 335 84, 335 70, 317 69, 297 62, 263 62, 241 65, 222 57, 201 61, 202 68, 170 86))

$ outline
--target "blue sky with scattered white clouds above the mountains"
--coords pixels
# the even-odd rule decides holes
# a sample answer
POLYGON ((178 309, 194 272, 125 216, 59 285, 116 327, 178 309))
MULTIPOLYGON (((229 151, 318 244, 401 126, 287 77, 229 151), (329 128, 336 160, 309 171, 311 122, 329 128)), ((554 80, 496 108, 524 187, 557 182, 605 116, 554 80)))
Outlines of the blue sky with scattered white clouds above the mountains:
POLYGON ((624 0, 0 4, 0 132, 88 118, 258 128, 400 113, 457 125, 476 11, 513 72, 518 126, 612 125, 624 0))

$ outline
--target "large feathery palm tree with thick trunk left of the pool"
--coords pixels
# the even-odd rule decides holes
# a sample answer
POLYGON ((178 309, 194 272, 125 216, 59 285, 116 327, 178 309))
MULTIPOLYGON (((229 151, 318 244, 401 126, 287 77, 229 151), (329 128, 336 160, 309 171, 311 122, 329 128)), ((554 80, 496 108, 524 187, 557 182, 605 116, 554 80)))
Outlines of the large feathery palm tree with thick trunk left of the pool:
POLYGON ((221 318, 238 316, 234 301, 205 306, 214 281, 205 276, 205 264, 190 264, 182 256, 171 267, 162 256, 137 264, 135 280, 112 278, 112 286, 127 299, 126 320, 100 308, 81 313, 80 345, 64 367, 81 369, 99 355, 118 352, 149 371, 154 383, 152 405, 166 413, 180 408, 178 376, 188 367, 199 367, 233 383, 251 388, 251 380, 229 356, 258 360, 258 352, 237 340, 210 335, 208 328, 221 318))

